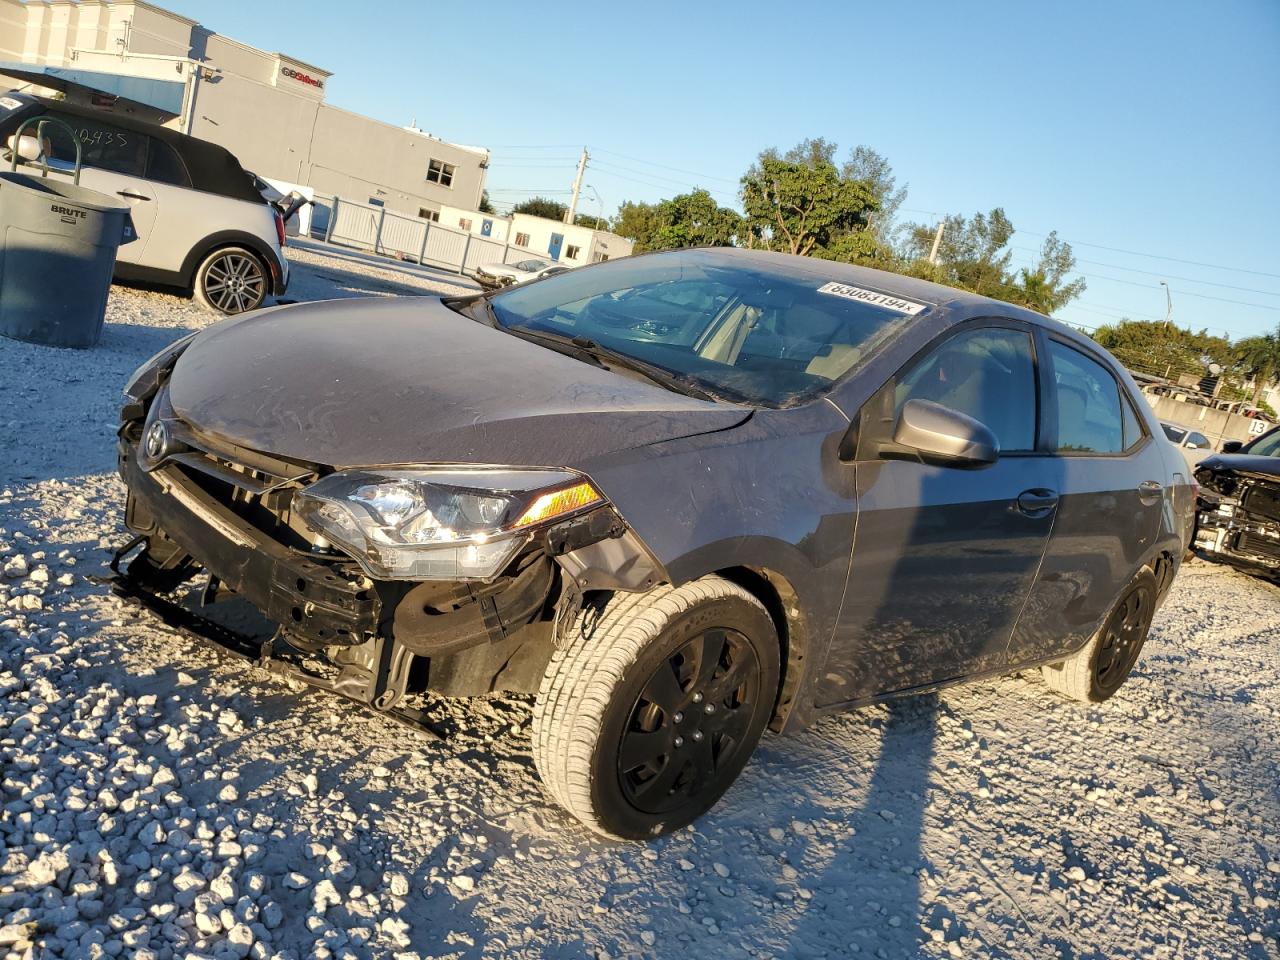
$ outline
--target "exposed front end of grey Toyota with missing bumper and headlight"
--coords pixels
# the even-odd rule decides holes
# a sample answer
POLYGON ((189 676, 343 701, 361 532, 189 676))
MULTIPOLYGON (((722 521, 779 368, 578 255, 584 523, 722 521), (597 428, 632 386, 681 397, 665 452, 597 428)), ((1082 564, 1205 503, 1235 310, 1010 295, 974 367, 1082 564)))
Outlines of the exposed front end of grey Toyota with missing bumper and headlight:
POLYGON ((280 460, 184 422, 164 374, 122 415, 115 590, 264 667, 421 722, 406 694, 532 692, 585 591, 666 579, 580 474, 280 460), (225 626, 229 599, 271 628, 225 626))

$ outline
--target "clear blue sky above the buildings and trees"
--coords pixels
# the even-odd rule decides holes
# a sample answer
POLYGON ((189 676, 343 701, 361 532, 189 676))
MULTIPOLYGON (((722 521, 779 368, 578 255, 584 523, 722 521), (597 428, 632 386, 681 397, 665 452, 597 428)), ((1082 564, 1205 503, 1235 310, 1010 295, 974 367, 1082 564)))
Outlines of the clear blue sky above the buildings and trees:
POLYGON ((820 136, 886 155, 909 219, 1004 206, 1016 264, 1057 229, 1088 280, 1070 323, 1164 319, 1167 278, 1181 325, 1280 324, 1276 0, 160 3, 333 70, 330 102, 492 147, 495 201, 563 198, 586 146, 585 212, 732 204, 763 147, 820 136))

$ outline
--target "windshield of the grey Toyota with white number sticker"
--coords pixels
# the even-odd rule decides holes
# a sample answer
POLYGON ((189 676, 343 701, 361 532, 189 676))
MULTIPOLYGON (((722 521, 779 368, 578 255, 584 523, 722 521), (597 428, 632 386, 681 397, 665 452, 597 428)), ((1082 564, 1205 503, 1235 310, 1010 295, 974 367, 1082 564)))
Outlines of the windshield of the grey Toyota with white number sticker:
POLYGON ((490 306, 500 326, 576 338, 716 397, 786 407, 827 390, 925 308, 837 275, 820 261, 682 251, 570 270, 490 306))

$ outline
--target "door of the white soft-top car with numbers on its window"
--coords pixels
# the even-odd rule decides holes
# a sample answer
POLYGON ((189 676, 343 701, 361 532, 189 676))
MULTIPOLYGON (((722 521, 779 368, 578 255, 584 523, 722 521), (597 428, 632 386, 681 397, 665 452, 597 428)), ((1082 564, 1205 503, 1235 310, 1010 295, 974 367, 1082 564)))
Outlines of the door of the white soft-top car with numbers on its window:
MULTIPOLYGON (((122 246, 116 260, 125 264, 145 262, 147 246, 160 215, 160 197, 146 177, 151 137, 115 127, 106 118, 88 119, 59 114, 55 110, 51 110, 50 115, 63 120, 79 137, 81 186, 129 205, 129 215, 133 218, 133 229, 138 239, 122 246)), ((69 179, 76 165, 74 145, 69 143, 67 134, 52 124, 46 136, 51 163, 58 168, 59 175, 69 179)))

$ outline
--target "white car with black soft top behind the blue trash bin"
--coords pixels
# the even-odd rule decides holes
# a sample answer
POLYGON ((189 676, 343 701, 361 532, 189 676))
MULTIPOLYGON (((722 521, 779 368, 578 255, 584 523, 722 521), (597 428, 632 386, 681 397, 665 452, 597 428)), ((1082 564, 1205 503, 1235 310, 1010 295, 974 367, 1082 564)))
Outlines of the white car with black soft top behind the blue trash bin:
POLYGON ((14 150, 31 173, 70 177, 76 147, 56 124, 44 142, 28 127, 33 116, 69 125, 81 141, 81 184, 128 202, 138 239, 122 246, 118 280, 192 291, 223 314, 242 314, 280 296, 289 282, 284 220, 253 186, 253 178, 223 147, 123 114, 72 106, 29 93, 0 96, 0 145, 14 150))

